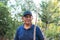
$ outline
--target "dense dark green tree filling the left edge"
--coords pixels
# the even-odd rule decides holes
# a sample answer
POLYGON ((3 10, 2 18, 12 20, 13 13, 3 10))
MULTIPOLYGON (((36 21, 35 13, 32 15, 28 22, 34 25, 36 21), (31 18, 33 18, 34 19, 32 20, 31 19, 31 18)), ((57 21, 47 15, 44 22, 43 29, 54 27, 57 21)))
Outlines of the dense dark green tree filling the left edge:
POLYGON ((11 13, 3 3, 0 3, 0 40, 11 40, 14 37, 16 28, 21 24, 13 20, 11 13))

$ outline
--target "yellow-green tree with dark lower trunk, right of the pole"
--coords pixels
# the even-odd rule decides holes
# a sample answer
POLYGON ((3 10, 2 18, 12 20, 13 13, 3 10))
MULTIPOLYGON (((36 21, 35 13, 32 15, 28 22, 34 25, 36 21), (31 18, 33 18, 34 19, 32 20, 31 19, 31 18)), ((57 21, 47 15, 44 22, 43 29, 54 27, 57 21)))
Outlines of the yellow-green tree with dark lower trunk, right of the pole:
POLYGON ((57 7, 58 3, 56 3, 56 5, 54 5, 54 3, 52 3, 52 1, 49 2, 43 2, 41 4, 41 11, 42 13, 39 14, 41 17, 42 22, 46 23, 45 28, 48 27, 48 24, 50 23, 57 23, 58 20, 55 19, 59 19, 59 12, 58 12, 58 7, 57 7), (58 15, 58 16, 56 16, 58 15))

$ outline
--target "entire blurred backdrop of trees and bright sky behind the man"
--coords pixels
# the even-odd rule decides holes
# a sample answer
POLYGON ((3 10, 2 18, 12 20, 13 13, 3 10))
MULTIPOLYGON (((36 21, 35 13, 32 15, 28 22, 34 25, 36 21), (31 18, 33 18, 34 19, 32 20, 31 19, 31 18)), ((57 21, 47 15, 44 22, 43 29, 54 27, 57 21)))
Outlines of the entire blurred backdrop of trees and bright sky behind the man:
POLYGON ((26 10, 32 12, 33 24, 37 15, 45 40, 60 40, 60 0, 0 0, 0 40, 14 40, 26 10))

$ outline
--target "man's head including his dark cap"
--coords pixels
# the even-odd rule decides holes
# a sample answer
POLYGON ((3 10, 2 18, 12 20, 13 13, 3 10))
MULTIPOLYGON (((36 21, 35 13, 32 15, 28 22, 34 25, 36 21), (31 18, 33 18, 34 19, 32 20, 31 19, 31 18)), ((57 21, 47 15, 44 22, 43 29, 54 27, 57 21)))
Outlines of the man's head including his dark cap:
POLYGON ((31 24, 32 23, 32 13, 30 11, 25 11, 23 13, 22 19, 25 24, 31 24))

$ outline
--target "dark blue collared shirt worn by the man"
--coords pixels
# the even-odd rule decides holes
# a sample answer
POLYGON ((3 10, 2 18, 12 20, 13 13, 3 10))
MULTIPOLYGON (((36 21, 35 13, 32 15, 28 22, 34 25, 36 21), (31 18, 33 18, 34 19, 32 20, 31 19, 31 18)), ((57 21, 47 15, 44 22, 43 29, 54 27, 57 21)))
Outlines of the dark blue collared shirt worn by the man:
MULTIPOLYGON (((33 40, 34 35, 34 26, 31 25, 29 29, 25 29, 24 25, 21 25, 16 32, 14 40, 33 40)), ((41 30, 36 26, 36 40, 44 40, 41 30)))

